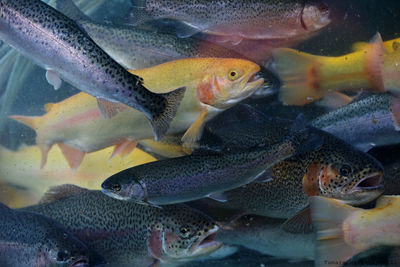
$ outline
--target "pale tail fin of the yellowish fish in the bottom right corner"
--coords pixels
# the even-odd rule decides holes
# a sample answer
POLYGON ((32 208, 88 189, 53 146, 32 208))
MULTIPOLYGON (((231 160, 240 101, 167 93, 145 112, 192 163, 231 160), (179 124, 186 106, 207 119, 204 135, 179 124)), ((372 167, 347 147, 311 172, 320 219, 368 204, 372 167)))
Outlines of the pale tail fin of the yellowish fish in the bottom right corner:
POLYGON ((315 266, 341 266, 361 251, 344 240, 343 221, 359 209, 338 200, 311 197, 311 216, 317 231, 315 266))

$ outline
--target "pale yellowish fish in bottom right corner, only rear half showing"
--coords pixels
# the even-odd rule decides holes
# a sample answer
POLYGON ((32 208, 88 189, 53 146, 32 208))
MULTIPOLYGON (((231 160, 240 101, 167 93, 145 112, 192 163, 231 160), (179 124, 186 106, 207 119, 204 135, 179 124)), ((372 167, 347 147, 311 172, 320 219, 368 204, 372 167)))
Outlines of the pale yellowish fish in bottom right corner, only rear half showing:
POLYGON ((367 210, 317 196, 310 203, 317 231, 316 266, 341 266, 374 247, 400 245, 399 196, 382 196, 367 210))

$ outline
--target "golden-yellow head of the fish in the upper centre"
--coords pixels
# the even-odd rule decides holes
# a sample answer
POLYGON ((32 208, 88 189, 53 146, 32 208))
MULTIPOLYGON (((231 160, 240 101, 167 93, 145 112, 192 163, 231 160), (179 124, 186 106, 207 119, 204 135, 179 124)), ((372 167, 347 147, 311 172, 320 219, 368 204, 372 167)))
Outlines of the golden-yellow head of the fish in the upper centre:
POLYGON ((198 100, 225 109, 255 92, 264 79, 256 77, 260 66, 244 59, 218 59, 205 68, 197 87, 198 100))

